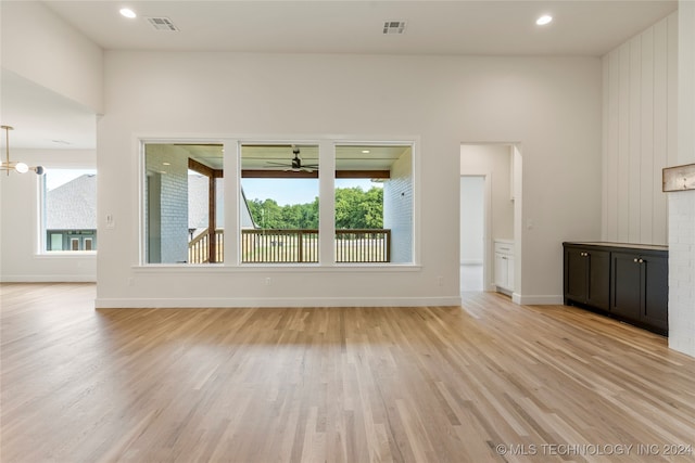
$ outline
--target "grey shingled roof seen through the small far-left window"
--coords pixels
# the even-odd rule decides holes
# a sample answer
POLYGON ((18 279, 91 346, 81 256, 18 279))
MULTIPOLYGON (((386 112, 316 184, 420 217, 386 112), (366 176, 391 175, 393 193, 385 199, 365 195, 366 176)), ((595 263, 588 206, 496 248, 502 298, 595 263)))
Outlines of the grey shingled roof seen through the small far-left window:
POLYGON ((85 173, 46 193, 46 229, 97 229, 96 175, 85 173))

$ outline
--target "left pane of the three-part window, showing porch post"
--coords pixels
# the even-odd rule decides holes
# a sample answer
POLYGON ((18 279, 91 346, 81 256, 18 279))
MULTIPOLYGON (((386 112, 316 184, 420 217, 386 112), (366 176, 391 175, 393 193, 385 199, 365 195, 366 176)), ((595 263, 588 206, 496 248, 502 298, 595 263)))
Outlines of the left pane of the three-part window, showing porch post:
POLYGON ((223 145, 144 144, 144 260, 224 260, 223 145))

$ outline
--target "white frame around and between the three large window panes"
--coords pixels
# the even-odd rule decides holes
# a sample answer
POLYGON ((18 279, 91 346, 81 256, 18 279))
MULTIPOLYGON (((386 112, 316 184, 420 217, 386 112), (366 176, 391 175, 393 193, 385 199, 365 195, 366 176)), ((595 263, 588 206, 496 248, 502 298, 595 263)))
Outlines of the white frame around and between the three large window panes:
POLYGON ((359 269, 366 271, 390 271, 390 270, 417 270, 421 268, 420 263, 420 139, 417 136, 410 137, 355 137, 355 136, 315 136, 315 137, 274 137, 274 136, 227 136, 227 137, 194 137, 179 139, 176 137, 161 136, 136 136, 135 142, 138 146, 137 168, 138 172, 138 195, 134 198, 137 202, 138 223, 138 249, 134 268, 166 268, 177 269, 177 271, 200 271, 195 269, 206 269, 207 271, 264 271, 264 269, 276 270, 302 270, 315 271, 334 270, 351 271, 351 269, 359 269), (147 144, 166 144, 166 143, 191 143, 191 144, 223 144, 223 169, 225 171, 225 192, 224 192, 224 214, 225 214, 225 248, 224 262, 222 263, 149 263, 146 256, 146 227, 147 210, 144 207, 146 189, 146 156, 144 147, 147 144), (318 164, 320 166, 318 180, 319 195, 319 258, 318 262, 241 262, 241 146, 242 144, 317 144, 318 145, 318 164), (412 214, 412 249, 409 262, 336 262, 334 258, 334 171, 336 171, 336 146, 337 145, 408 145, 410 146, 412 159, 412 182, 413 182, 413 201, 410 206, 412 214), (218 270, 214 270, 218 269, 218 270))

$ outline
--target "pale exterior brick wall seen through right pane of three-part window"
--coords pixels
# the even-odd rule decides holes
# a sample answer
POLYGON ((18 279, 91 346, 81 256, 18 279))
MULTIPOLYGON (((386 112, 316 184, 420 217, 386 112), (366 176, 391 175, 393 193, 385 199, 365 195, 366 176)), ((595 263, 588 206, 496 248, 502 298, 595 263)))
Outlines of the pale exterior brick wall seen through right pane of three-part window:
POLYGON ((391 261, 413 261, 413 154, 408 147, 383 184, 383 228, 391 229, 391 261))

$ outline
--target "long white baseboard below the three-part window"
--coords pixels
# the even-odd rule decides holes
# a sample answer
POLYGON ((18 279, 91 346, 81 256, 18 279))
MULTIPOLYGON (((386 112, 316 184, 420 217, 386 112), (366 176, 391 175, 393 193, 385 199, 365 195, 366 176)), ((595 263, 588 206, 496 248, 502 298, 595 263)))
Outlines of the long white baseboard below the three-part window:
POLYGON ((336 298, 108 298, 98 309, 132 308, 243 308, 243 307, 424 307, 460 306, 460 296, 441 297, 336 297, 336 298))

